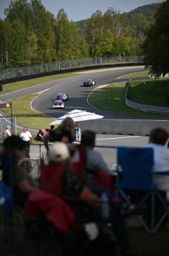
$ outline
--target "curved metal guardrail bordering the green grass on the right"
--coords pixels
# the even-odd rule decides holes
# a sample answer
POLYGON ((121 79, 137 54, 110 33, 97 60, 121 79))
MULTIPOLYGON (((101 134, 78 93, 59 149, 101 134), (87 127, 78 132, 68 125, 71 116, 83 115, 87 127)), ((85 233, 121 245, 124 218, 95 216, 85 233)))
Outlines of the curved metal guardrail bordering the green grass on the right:
POLYGON ((128 105, 128 107, 137 109, 139 111, 151 112, 156 114, 169 114, 169 108, 144 105, 144 104, 139 104, 137 102, 132 102, 131 100, 128 99, 128 93, 130 88, 131 88, 131 79, 128 82, 128 87, 125 92, 125 104, 128 105))

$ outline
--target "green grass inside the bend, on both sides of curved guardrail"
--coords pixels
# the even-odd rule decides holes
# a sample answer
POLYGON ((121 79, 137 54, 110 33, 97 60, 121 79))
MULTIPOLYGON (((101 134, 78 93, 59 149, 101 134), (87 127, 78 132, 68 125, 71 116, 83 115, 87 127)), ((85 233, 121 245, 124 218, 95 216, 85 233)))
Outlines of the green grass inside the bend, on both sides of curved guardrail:
MULTIPOLYGON (((156 99, 159 97, 159 91, 162 91, 162 93, 160 93, 160 97, 162 99, 159 99, 159 101, 164 103, 165 95, 166 96, 169 95, 168 93, 169 86, 167 81, 169 82, 169 80, 157 80, 157 81, 142 80, 141 82, 140 81, 132 82, 129 99, 131 100, 136 99, 134 97, 135 96, 134 93, 137 93, 140 99, 139 103, 156 105, 156 99), (165 85, 164 85, 165 89, 163 88, 162 90, 161 84, 163 83, 163 81, 165 81, 165 85), (147 90, 145 90, 145 86, 143 85, 147 86, 147 90), (149 89, 149 87, 151 88, 149 89), (156 97, 155 96, 152 97, 152 94, 156 95, 156 97)), ((168 115, 137 111, 125 105, 126 86, 127 86, 127 83, 125 84, 124 82, 120 82, 117 84, 108 85, 105 88, 97 89, 93 91, 92 94, 89 96, 89 103, 91 105, 94 105, 94 107, 96 108, 105 109, 107 111, 116 111, 124 114, 146 116, 146 117, 157 118, 157 119, 158 118, 169 119, 168 115)), ((167 106, 167 105, 164 104, 162 106, 167 106)))

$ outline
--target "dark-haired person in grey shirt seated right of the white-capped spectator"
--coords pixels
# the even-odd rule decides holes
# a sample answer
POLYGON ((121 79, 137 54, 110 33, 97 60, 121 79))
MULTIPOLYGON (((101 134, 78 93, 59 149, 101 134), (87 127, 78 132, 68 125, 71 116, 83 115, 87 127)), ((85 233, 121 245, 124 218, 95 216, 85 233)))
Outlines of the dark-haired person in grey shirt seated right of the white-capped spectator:
MULTIPOLYGON (((97 174, 97 171, 103 171, 107 174, 112 174, 106 164, 105 160, 103 160, 102 155, 94 150, 95 146, 95 134, 93 131, 83 131, 81 137, 81 145, 86 146, 86 170, 92 170, 97 174)), ((86 183, 89 187, 92 186, 94 182, 95 176, 94 174, 86 172, 86 183)))

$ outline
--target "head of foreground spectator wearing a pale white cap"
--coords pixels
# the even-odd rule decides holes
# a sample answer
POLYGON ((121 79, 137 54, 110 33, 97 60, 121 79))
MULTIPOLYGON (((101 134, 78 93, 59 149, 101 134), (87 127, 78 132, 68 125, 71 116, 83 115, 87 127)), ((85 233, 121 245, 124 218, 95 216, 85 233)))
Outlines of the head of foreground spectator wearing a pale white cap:
POLYGON ((63 165, 64 171, 71 171, 69 149, 64 142, 55 142, 48 152, 49 165, 63 165))

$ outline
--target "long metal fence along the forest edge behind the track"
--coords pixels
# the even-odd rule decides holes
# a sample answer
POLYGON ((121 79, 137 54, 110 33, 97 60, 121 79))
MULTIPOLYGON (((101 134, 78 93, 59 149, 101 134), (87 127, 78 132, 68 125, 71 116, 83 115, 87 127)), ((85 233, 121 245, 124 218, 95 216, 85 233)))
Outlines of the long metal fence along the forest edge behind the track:
POLYGON ((21 76, 31 76, 38 73, 48 73, 55 70, 64 70, 69 68, 81 68, 93 65, 134 62, 142 62, 142 56, 112 56, 103 58, 67 60, 63 62, 52 62, 48 64, 41 63, 40 65, 25 66, 20 68, 7 68, 7 70, 0 70, 0 80, 13 79, 21 76))

